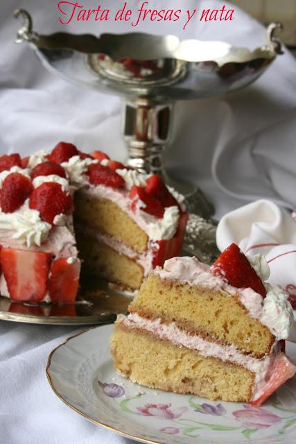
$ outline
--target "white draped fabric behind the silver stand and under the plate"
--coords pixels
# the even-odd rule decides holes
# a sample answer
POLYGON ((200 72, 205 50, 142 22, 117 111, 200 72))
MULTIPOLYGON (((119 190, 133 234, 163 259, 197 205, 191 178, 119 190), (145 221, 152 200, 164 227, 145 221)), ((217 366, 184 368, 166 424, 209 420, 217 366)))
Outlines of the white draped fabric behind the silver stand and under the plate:
MULTIPOLYGON (((17 7, 32 14, 36 31, 51 33, 58 22, 56 1, 3 0, 0 4, 0 153, 27 155, 64 139, 87 151, 101 149, 123 159, 121 101, 78 89, 48 74, 26 45, 13 43, 17 7)), ((122 2, 101 3, 119 8, 122 2)), ((129 5, 139 2, 130 0, 129 5)), ((220 0, 166 0, 162 7, 220 7, 220 0)), ((150 1, 158 7, 158 1, 150 1)), ((73 23, 64 31, 129 32, 127 24, 73 23)), ((202 40, 226 40, 254 48, 265 40, 261 25, 236 8, 234 22, 141 24, 137 31, 174 33, 202 40)), ((296 61, 286 52, 245 90, 220 99, 177 105, 175 139, 166 163, 200 185, 214 201, 216 216, 256 198, 296 208, 296 61), (182 156, 180 155, 182 147, 182 156)), ((30 326, 0 321, 0 433, 5 444, 128 443, 90 424, 51 392, 44 368, 55 345, 76 332, 69 327, 30 326)))

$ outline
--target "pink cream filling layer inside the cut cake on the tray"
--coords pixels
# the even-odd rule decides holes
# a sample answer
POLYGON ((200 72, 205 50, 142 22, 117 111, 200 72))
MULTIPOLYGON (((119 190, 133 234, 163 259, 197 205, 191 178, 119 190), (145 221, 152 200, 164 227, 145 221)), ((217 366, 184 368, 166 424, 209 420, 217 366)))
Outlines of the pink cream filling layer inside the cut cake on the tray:
POLYGON ((119 255, 125 255, 129 259, 132 259, 134 262, 137 262, 142 268, 144 276, 147 276, 148 273, 153 269, 153 250, 159 248, 158 244, 150 244, 149 249, 146 253, 137 253, 129 246, 123 244, 123 242, 115 239, 112 236, 108 236, 107 234, 103 234, 94 230, 93 228, 85 227, 82 223, 78 223, 78 230, 87 234, 89 237, 93 237, 97 239, 99 242, 110 246, 113 250, 115 250, 119 255))

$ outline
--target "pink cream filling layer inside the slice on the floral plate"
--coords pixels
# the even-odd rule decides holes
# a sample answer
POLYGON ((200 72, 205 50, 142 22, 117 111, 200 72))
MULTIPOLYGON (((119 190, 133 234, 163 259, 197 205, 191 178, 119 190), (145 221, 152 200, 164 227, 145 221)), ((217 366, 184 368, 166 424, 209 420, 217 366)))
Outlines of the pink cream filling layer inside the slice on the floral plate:
POLYGON ((175 323, 162 323, 160 318, 151 321, 143 318, 136 313, 127 316, 119 315, 117 320, 128 328, 139 328, 146 330, 157 336, 159 339, 170 341, 174 345, 182 345, 190 350, 197 350, 204 357, 220 359, 223 362, 229 362, 242 366, 254 373, 254 386, 252 388, 252 400, 259 398, 268 383, 270 370, 275 366, 277 356, 280 350, 277 342, 272 346, 270 355, 262 359, 257 359, 249 355, 244 355, 235 345, 220 345, 215 342, 202 339, 198 335, 191 335, 184 330, 180 330, 175 323))

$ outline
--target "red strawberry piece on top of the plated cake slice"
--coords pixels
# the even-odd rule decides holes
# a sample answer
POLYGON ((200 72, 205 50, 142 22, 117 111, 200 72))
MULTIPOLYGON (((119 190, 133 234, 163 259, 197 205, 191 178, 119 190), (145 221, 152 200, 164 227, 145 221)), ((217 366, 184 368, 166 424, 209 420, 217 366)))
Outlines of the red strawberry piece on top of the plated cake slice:
POLYGON ((236 288, 251 288, 266 296, 263 282, 236 244, 230 245, 211 266, 211 273, 222 276, 236 288))

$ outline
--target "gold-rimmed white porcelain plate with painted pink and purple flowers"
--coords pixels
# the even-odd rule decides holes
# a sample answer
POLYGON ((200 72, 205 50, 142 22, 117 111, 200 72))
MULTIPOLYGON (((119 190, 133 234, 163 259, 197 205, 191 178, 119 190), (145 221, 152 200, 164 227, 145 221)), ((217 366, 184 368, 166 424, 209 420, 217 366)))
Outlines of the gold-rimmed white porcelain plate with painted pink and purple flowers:
MULTIPOLYGON (((152 390, 114 370, 112 329, 72 336, 46 367, 55 394, 88 420, 143 443, 295 444, 295 377, 257 408, 152 390)), ((287 343, 287 352, 295 361, 296 345, 287 343)))

